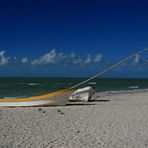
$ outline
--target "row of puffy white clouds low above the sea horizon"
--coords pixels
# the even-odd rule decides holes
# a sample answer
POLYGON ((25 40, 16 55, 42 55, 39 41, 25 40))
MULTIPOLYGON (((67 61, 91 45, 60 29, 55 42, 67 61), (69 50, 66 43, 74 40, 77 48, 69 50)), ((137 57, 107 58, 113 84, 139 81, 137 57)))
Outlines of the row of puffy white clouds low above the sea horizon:
MULTIPOLYGON (((76 66, 87 66, 94 64, 105 64, 106 58, 100 54, 86 54, 79 55, 75 52, 65 54, 63 52, 58 52, 55 49, 49 50, 49 52, 41 55, 40 57, 29 59, 28 57, 10 57, 7 56, 5 50, 0 50, 0 67, 6 65, 15 66, 43 66, 43 65, 76 65, 76 66)), ((107 62, 113 63, 107 59, 107 62)), ((131 61, 124 63, 124 66, 139 66, 141 68, 148 67, 148 59, 141 58, 140 55, 136 55, 131 61)))

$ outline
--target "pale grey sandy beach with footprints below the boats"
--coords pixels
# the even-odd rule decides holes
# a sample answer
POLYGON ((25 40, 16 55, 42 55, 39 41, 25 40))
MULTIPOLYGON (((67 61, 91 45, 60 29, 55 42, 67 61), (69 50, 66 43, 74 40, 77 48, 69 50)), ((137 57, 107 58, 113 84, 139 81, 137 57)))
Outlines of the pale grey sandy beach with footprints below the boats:
POLYGON ((97 93, 87 103, 0 108, 0 148, 147 148, 148 91, 97 93))

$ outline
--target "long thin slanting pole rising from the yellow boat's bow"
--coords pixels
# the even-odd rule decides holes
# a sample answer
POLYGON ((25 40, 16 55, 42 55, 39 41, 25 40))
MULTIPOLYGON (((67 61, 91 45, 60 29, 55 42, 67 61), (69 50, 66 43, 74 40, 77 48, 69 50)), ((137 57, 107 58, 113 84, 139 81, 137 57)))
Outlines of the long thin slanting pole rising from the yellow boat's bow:
POLYGON ((116 63, 116 64, 114 64, 114 65, 112 65, 112 66, 110 66, 110 67, 108 67, 108 68, 106 68, 106 69, 104 69, 102 72, 100 72, 100 73, 98 73, 98 74, 96 74, 96 75, 90 77, 89 79, 87 79, 87 80, 85 80, 85 81, 82 81, 81 83, 78 83, 78 84, 72 86, 71 88, 76 88, 76 87, 78 87, 78 86, 80 86, 80 85, 82 85, 82 84, 85 84, 85 83, 89 82, 90 80, 92 80, 92 79, 94 79, 94 78, 96 78, 96 77, 99 77, 99 76, 103 75, 104 73, 106 73, 106 72, 112 70, 113 68, 115 68, 115 67, 121 65, 122 63, 126 62, 127 60, 133 58, 134 56, 136 56, 136 55, 138 55, 138 54, 141 54, 142 52, 144 52, 144 51, 146 51, 146 50, 148 50, 148 48, 144 48, 144 49, 141 49, 141 50, 137 51, 136 53, 130 55, 129 57, 123 59, 122 61, 120 61, 120 62, 118 62, 118 63, 116 63))

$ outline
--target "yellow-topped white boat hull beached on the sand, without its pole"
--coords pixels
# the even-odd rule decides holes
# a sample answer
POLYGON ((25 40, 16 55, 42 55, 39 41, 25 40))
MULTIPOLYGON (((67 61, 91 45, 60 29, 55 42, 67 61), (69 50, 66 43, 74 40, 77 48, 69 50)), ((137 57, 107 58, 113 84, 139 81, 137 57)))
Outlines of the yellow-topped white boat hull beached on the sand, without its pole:
POLYGON ((0 106, 55 106, 66 105, 73 88, 28 98, 1 98, 0 106))

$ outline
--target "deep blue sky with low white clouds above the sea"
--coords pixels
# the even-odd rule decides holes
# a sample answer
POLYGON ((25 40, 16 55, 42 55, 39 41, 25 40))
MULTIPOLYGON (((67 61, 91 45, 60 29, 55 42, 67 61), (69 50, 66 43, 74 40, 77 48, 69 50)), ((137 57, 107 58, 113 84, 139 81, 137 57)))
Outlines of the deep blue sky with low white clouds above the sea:
MULTIPOLYGON (((0 0, 0 76, 92 76, 148 47, 147 6, 147 0, 0 0)), ((104 76, 148 77, 148 53, 104 76)))

